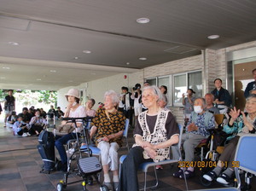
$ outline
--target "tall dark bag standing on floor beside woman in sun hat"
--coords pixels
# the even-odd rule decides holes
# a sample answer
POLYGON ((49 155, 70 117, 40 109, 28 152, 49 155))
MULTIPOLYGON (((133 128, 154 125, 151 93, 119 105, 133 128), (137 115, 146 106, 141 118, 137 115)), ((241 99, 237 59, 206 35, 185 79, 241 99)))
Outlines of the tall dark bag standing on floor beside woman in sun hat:
POLYGON ((38 152, 40 153, 44 166, 40 173, 49 174, 55 170, 55 136, 46 130, 43 130, 38 136, 38 152))

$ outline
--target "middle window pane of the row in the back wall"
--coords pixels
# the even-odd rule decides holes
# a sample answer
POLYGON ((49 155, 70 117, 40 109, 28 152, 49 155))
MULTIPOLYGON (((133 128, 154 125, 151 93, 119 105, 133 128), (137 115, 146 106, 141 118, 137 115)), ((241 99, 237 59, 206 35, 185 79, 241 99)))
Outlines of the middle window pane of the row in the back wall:
POLYGON ((174 95, 173 95, 174 106, 182 106, 183 93, 186 93, 186 91, 187 91, 186 74, 175 75, 174 76, 174 95))

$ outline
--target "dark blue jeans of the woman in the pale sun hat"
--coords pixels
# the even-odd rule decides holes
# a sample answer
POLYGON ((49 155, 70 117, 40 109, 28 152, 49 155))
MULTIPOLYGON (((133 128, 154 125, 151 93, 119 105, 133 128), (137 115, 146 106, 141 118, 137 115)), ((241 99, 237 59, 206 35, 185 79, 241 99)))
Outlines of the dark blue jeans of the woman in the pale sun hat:
POLYGON ((67 164, 67 153, 64 148, 64 144, 67 144, 67 142, 71 139, 76 139, 76 134, 75 133, 69 133, 65 136, 56 136, 56 141, 55 141, 55 147, 57 148, 60 157, 61 157, 61 163, 64 165, 67 164))

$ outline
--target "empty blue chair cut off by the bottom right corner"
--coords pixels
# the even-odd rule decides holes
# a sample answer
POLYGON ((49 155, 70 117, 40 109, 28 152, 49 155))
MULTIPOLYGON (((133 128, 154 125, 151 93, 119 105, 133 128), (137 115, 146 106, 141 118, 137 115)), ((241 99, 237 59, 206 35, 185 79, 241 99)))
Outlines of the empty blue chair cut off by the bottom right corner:
POLYGON ((241 178, 239 176, 239 170, 246 171, 256 176, 256 152, 252 149, 252 145, 256 145, 256 135, 248 134, 241 136, 236 147, 236 155, 234 162, 236 162, 235 172, 237 180, 237 188, 210 188, 210 189, 196 189, 207 191, 232 191, 241 190, 241 178))

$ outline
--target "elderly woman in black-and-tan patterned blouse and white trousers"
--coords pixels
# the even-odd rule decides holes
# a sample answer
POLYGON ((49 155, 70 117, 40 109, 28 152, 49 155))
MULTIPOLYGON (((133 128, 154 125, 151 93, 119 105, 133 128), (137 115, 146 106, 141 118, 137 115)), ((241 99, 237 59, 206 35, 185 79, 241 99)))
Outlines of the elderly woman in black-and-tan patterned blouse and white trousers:
POLYGON ((117 110, 119 96, 113 90, 108 90, 104 95, 104 107, 96 111, 92 119, 90 137, 95 135, 96 146, 101 149, 102 166, 104 172, 104 184, 112 189, 108 174, 110 166, 113 171, 113 188, 118 186, 118 149, 122 143, 123 130, 125 128, 125 116, 117 110))

